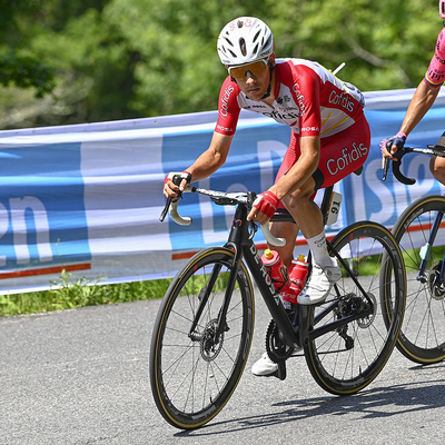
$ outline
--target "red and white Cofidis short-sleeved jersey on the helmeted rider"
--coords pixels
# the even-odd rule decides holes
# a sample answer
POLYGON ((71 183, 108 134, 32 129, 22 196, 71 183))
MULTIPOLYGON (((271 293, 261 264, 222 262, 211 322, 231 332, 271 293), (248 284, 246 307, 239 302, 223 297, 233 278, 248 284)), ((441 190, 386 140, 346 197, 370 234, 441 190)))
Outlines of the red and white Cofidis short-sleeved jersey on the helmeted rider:
POLYGON ((215 131, 234 135, 241 108, 289 126, 299 136, 336 135, 363 117, 362 92, 322 65, 304 59, 278 59, 274 106, 250 100, 227 77, 219 93, 215 131))

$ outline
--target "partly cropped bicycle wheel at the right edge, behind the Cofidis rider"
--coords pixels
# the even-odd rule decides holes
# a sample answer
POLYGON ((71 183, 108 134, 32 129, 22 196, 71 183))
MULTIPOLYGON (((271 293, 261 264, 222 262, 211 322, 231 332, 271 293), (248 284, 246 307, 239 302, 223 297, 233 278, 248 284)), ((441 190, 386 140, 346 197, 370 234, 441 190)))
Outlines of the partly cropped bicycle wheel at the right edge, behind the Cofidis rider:
MULTIPOLYGON (((445 197, 419 198, 403 211, 393 228, 407 274, 406 309, 397 348, 405 357, 423 365, 445 358, 445 291, 437 287, 435 290, 434 284, 434 275, 442 264, 437 261, 444 258, 444 247, 436 248, 436 258, 428 258, 427 281, 417 280, 421 247, 428 240, 437 212, 445 212, 445 197)), ((444 236, 445 228, 441 228, 437 237, 444 236)))

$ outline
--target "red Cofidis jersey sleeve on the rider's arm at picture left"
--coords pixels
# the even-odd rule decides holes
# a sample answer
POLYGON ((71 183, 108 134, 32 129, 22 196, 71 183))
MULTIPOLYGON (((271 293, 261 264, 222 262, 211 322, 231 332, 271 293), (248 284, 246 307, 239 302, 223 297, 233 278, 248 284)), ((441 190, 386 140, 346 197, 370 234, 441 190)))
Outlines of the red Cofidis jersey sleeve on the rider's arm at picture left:
POLYGON ((218 121, 216 122, 215 131, 221 135, 234 135, 239 112, 241 111, 238 105, 239 87, 230 80, 230 77, 224 81, 219 92, 218 102, 218 121))

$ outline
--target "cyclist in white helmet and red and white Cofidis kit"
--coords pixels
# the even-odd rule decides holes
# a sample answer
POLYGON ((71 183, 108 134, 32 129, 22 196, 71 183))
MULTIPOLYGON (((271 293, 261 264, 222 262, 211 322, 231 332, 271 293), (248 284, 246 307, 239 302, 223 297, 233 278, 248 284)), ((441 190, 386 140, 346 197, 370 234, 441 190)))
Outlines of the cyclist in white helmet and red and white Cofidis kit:
MULTIPOLYGON (((298 303, 323 301, 340 270, 327 254, 322 211, 315 192, 358 170, 369 152, 370 131, 363 112, 362 92, 319 63, 277 59, 274 37, 266 23, 251 17, 230 21, 218 37, 218 55, 229 76, 219 95, 219 118, 209 148, 185 171, 179 187, 167 175, 164 194, 177 198, 188 182, 212 175, 228 156, 241 108, 260 112, 291 129, 290 144, 275 184, 259 194, 248 219, 265 224, 285 207, 293 222, 273 222, 276 248, 290 266, 298 231, 313 254, 313 274, 298 303)), ((273 375, 277 365, 267 354, 254 365, 256 375, 273 375)))

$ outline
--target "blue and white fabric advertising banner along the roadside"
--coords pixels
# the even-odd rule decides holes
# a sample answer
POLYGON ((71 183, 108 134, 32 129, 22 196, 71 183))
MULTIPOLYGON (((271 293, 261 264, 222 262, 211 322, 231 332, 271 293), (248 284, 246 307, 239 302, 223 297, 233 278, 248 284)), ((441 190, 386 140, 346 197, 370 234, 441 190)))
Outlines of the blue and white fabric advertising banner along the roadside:
MULTIPOLYGON (((382 181, 379 141, 399 128, 414 90, 365 93, 372 146, 362 176, 335 189, 343 195, 334 235, 346 225, 372 219, 390 228, 414 199, 442 194, 429 158, 404 158, 412 187, 389 174, 382 181)), ((444 129, 439 95, 407 144, 435 144, 444 129)), ((189 195, 179 211, 194 218, 177 226, 159 222, 164 178, 181 171, 207 149, 217 112, 0 131, 0 293, 50 287, 62 270, 100 283, 171 277, 200 248, 220 245, 233 208, 189 195)), ((288 127, 243 111, 226 164, 197 184, 221 191, 264 191, 274 181, 290 138, 288 127)), ((317 197, 317 199, 319 199, 317 197)), ((264 248, 261 234, 256 237, 264 248)), ((303 238, 297 253, 307 253, 303 238)))

